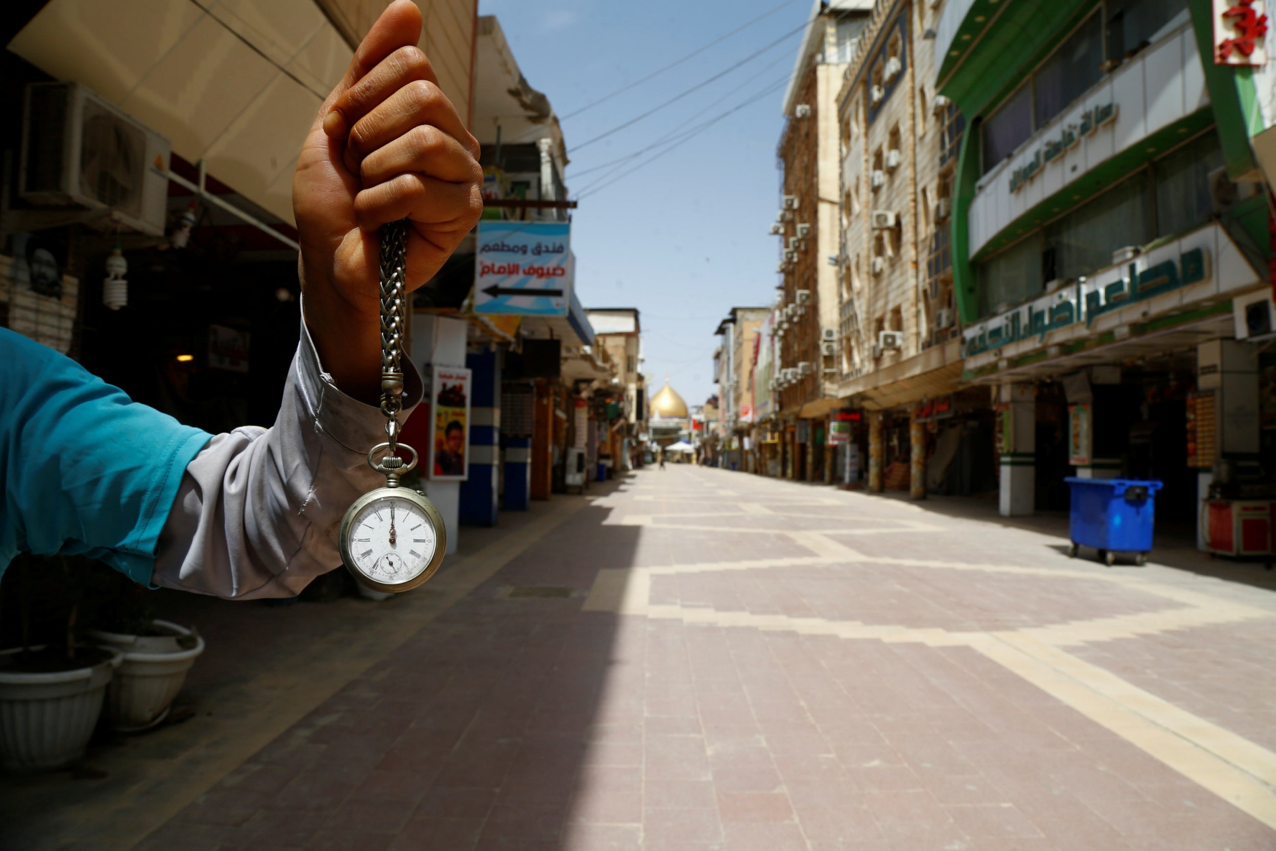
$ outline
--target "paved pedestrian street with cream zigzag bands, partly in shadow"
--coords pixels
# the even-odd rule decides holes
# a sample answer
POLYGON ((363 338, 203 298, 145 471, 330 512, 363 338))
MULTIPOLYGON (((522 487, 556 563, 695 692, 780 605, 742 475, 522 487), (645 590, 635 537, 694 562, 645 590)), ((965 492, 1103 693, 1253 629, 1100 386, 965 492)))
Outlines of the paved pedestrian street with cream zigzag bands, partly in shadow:
POLYGON ((191 598, 197 716, 5 847, 1276 848, 1271 574, 963 505, 670 464, 403 600, 191 598))

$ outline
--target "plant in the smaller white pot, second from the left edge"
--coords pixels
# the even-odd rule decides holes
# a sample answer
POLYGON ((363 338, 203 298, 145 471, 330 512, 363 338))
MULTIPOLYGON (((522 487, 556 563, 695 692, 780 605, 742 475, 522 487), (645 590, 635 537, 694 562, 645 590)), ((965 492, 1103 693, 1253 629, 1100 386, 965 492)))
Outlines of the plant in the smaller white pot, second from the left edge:
POLYGON ((122 655, 106 693, 106 718, 116 732, 140 732, 158 726, 186 681, 186 672, 204 652, 194 629, 158 620, 151 592, 111 572, 94 575, 98 644, 122 655))

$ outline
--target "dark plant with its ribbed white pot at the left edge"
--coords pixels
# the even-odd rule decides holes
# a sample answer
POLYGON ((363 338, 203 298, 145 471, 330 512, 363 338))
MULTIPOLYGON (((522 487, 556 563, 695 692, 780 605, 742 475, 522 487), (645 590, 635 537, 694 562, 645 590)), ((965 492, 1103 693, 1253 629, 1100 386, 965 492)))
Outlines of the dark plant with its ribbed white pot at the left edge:
POLYGON ((0 767, 60 768, 84 755, 122 656, 79 640, 85 559, 15 560, 0 605, 0 767), (13 646, 17 643, 17 646, 13 646))

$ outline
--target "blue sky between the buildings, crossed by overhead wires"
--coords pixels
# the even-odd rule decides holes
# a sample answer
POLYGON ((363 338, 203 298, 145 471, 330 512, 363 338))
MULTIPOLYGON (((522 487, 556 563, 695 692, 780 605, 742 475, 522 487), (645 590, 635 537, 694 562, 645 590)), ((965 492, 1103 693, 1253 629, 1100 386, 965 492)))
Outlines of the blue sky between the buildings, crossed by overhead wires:
POLYGON ((572 221, 577 295, 586 307, 638 307, 649 393, 667 374, 688 404, 702 404, 716 393, 718 323, 731 307, 769 305, 776 295, 777 237, 768 233, 780 204, 776 144, 812 0, 478 3, 478 14, 499 18, 523 77, 561 119, 565 182, 579 196, 572 221), (676 68, 572 115, 771 10, 676 68), (649 117, 590 142, 773 42, 649 117), (610 177, 609 168, 587 171, 750 100, 667 153, 656 148, 621 162, 610 177))

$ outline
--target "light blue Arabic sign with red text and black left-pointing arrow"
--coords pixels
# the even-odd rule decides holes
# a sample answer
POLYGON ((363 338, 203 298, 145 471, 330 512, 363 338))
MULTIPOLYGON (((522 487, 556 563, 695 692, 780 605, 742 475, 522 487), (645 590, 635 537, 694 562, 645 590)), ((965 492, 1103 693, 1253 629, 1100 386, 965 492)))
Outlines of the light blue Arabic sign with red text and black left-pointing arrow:
POLYGON ((478 222, 475 313, 565 316, 575 262, 569 222, 478 222))

